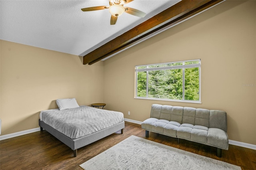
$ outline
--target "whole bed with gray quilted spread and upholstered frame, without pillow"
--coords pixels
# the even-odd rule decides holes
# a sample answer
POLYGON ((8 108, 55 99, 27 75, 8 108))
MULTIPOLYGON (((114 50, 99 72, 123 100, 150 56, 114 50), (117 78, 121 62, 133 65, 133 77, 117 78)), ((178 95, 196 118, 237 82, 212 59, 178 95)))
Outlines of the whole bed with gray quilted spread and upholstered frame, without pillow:
POLYGON ((41 111, 39 126, 41 131, 45 129, 70 147, 76 157, 78 148, 119 130, 123 134, 124 115, 89 106, 76 105, 68 109, 59 106, 59 109, 41 111))

